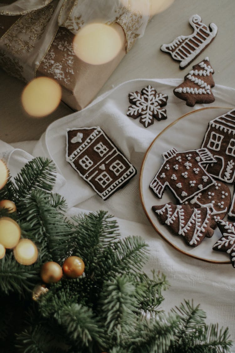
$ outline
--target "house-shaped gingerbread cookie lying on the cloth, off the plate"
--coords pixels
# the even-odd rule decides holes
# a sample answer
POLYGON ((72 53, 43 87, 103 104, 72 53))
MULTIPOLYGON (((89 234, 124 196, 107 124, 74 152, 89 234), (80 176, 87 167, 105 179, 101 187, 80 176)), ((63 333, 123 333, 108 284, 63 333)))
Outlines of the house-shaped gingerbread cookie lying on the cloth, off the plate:
POLYGON ((67 130, 66 160, 104 200, 136 174, 99 126, 67 130))

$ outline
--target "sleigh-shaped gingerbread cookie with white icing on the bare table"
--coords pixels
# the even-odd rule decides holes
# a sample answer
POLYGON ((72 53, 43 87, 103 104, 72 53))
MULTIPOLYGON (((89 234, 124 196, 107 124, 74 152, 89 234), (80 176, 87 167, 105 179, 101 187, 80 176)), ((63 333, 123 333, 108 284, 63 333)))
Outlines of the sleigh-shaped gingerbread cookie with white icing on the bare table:
POLYGON ((210 23, 206 26, 200 16, 193 15, 189 23, 194 29, 190 36, 179 36, 169 44, 163 44, 161 50, 171 54, 174 60, 180 61, 180 68, 188 66, 210 44, 217 34, 217 26, 210 23))

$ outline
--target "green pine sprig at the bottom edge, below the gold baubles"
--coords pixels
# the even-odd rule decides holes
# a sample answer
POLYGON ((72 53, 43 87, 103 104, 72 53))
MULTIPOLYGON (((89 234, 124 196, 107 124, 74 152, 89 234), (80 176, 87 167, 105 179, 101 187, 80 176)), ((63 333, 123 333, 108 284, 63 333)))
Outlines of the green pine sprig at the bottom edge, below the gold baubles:
POLYGON ((94 347, 102 347, 105 332, 88 307, 76 303, 64 306, 55 313, 55 318, 77 348, 86 347, 87 352, 92 353, 94 347))

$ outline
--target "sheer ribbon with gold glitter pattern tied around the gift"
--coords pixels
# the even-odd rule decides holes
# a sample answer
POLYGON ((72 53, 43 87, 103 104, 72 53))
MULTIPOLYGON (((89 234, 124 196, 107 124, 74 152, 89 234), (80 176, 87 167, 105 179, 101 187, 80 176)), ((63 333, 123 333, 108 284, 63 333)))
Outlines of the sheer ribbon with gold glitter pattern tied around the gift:
POLYGON ((29 81, 47 54, 59 26, 73 34, 84 24, 117 22, 126 35, 126 50, 144 34, 149 16, 149 0, 142 10, 131 8, 136 0, 17 0, 0 5, 0 14, 23 15, 0 38, 0 64, 10 74, 29 81))

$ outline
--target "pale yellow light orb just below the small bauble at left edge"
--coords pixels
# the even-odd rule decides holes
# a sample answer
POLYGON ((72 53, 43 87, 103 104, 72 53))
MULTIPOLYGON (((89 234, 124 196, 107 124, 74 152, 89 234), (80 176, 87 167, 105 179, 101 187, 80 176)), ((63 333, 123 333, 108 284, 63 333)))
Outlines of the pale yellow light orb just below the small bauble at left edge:
POLYGON ((0 244, 7 249, 15 247, 20 240, 20 227, 9 217, 0 218, 0 244))

